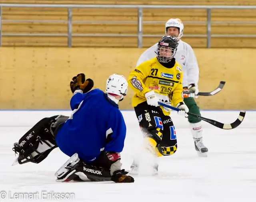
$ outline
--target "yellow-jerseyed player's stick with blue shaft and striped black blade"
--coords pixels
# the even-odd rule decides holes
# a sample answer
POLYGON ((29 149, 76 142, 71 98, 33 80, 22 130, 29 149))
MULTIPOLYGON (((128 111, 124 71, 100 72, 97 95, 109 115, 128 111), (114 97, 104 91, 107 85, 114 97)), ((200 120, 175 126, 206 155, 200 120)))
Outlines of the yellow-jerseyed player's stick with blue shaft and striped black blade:
MULTIPOLYGON (((178 109, 176 107, 172 107, 170 105, 166 105, 166 104, 161 103, 161 102, 158 102, 158 104, 162 105, 163 107, 167 107, 169 109, 173 109, 175 111, 180 111, 180 109, 178 109)), ((218 121, 215 121, 215 120, 212 120, 212 119, 207 119, 207 118, 201 117, 199 115, 196 115, 196 114, 193 114, 193 113, 190 113, 190 112, 188 112, 187 114, 192 116, 192 117, 196 117, 198 119, 206 121, 206 122, 208 122, 208 123, 210 123, 210 124, 220 128, 220 129, 228 130, 228 129, 234 129, 234 128, 238 127, 242 123, 242 121, 244 120, 245 111, 240 111, 238 118, 233 123, 220 123, 218 121)))

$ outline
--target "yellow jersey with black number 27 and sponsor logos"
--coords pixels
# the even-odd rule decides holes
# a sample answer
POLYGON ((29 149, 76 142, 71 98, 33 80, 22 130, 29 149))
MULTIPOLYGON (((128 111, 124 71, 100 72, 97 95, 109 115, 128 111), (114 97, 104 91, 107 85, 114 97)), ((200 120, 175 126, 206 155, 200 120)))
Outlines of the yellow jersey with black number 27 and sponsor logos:
MULTIPOLYGON (((128 85, 134 90, 132 106, 145 102, 145 93, 154 90, 160 100, 174 107, 183 101, 182 98, 182 67, 175 62, 172 68, 161 65, 154 57, 138 65, 128 77, 128 85)), ((170 109, 162 107, 165 115, 170 109)))

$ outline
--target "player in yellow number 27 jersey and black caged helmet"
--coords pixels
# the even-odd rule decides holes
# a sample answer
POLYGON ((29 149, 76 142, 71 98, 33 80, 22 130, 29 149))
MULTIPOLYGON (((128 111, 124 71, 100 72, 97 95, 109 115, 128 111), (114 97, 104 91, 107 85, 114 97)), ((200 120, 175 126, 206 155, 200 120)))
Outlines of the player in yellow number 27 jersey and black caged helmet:
MULTIPOLYGON (((170 110, 158 104, 162 101, 178 107, 180 115, 188 112, 182 96, 182 68, 175 61, 178 46, 175 37, 164 36, 156 49, 156 57, 138 65, 128 78, 128 85, 134 90, 132 106, 142 133, 146 148, 156 156, 172 155, 177 149, 175 127, 170 118, 170 110)), ((138 162, 134 159, 130 172, 138 172, 138 162)), ((154 165, 154 172, 158 164, 154 165)))

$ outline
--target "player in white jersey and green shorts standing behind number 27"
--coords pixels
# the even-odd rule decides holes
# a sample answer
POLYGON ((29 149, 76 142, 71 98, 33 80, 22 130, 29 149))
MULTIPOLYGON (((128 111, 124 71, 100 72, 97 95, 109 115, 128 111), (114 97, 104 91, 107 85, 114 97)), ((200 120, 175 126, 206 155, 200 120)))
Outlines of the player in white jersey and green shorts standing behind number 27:
MULTIPOLYGON (((176 36, 179 40, 179 45, 174 58, 182 66, 183 70, 183 90, 193 92, 191 95, 197 97, 198 94, 198 79, 199 79, 199 68, 196 60, 196 56, 191 46, 186 42, 180 40, 183 35, 184 25, 178 18, 171 18, 165 24, 165 35, 176 36)), ((153 57, 156 57, 156 47, 154 44, 148 48, 140 58, 138 59, 137 65, 147 61, 153 57)), ((197 106, 193 97, 188 97, 188 94, 184 93, 184 103, 188 106, 189 112, 200 115, 199 107, 197 106)), ((192 131, 194 145, 199 156, 207 156, 208 149, 202 142, 202 123, 200 119, 188 116, 188 122, 190 123, 190 129, 192 131)))

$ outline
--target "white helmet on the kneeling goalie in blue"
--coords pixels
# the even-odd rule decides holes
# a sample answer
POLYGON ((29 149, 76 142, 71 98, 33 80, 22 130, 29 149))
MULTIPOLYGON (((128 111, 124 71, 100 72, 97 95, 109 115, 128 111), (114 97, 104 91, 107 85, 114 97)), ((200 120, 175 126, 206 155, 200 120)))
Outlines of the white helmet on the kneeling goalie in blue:
POLYGON ((106 81, 106 93, 109 95, 121 95, 122 101, 126 96, 128 90, 128 83, 123 75, 112 74, 106 81))

